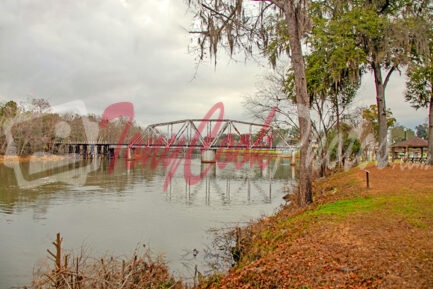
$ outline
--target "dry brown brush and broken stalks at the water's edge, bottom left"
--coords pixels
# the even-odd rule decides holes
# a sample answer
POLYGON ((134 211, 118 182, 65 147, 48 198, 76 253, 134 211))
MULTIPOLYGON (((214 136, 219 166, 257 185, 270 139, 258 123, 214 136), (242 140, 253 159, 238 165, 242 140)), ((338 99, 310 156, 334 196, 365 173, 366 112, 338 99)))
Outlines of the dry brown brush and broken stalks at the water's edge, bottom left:
POLYGON ((83 252, 75 257, 62 255, 60 235, 53 244, 55 253, 48 250, 53 259, 52 265, 47 263, 38 269, 31 288, 184 288, 182 282, 170 276, 163 260, 152 258, 145 248, 135 250, 127 259, 92 259, 83 252))

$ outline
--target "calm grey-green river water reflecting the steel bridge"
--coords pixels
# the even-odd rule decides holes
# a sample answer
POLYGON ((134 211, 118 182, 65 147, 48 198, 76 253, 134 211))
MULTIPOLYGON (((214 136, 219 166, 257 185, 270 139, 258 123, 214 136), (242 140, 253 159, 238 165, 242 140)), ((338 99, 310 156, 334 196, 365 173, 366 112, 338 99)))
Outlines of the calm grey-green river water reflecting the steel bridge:
MULTIPOLYGON (((203 260, 213 238, 210 229, 245 225, 274 213, 296 182, 289 159, 272 158, 265 168, 249 163, 220 168, 194 158, 188 164, 192 174, 207 174, 188 184, 185 160, 179 160, 164 190, 165 161, 170 160, 151 168, 120 159, 111 172, 108 161, 99 161, 87 171, 84 184, 42 181, 31 188, 17 181, 17 171, 27 180, 36 162, 40 172, 32 180, 50 180, 59 169, 41 160, 15 170, 0 165, 0 288, 29 284, 33 271, 47 260, 46 250, 52 249, 58 232, 63 248, 84 249, 96 258, 130 256, 145 244, 164 256, 174 275, 191 279, 196 265, 206 271, 203 260)), ((94 163, 80 161, 75 166, 89 164, 94 163)))

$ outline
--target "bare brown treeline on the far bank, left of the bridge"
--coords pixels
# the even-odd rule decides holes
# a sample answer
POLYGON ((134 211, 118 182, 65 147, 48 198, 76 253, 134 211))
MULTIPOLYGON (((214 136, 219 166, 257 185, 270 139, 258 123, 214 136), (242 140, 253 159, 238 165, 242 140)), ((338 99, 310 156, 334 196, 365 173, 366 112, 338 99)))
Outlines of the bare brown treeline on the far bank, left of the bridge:
MULTIPOLYGON (((13 141, 14 153, 30 155, 35 152, 54 152, 58 142, 110 142, 117 143, 122 135, 127 119, 118 118, 99 127, 101 116, 86 116, 77 113, 50 112, 50 104, 45 99, 33 99, 30 105, 18 104, 10 100, 0 104, 0 154, 6 154, 8 144, 13 141), (90 139, 89 139, 90 138, 90 139)), ((126 139, 142 128, 135 122, 128 129, 126 139)))

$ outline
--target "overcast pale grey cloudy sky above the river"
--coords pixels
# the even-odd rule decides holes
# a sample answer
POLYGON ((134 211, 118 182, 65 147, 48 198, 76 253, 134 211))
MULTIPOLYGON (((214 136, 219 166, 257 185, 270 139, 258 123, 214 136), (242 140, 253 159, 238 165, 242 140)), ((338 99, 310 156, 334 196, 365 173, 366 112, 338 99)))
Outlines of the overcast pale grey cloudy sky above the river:
MULTIPOLYGON (((184 0, 0 1, 0 102, 81 100, 101 114, 128 101, 142 125, 202 118, 223 102, 224 118, 250 120, 242 102, 270 67, 223 53, 197 69, 192 23, 184 0)), ((387 106, 414 128, 427 112, 403 101, 404 81, 392 77, 387 106)), ((366 75, 356 105, 373 103, 366 75)))

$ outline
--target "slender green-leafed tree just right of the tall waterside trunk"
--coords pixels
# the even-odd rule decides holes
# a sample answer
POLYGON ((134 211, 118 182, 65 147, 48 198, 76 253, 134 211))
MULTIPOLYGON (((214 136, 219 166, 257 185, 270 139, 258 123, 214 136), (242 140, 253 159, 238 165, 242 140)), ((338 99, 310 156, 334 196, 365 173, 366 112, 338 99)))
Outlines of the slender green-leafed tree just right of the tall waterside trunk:
MULTIPOLYGON (((364 57, 353 39, 341 37, 338 23, 329 21, 325 16, 320 1, 314 1, 311 15, 313 31, 308 37, 312 53, 307 57, 307 80, 311 98, 327 99, 333 111, 337 131, 338 165, 342 166, 343 133, 341 118, 353 102, 360 86, 362 70, 359 62, 364 57)), ((322 116, 323 113, 319 112, 322 116)), ((324 126, 325 127, 325 126, 324 126)), ((325 133, 325 138, 328 134, 325 133)), ((325 141, 324 144, 328 144, 325 141)), ((327 150, 327 149, 326 149, 327 150)))

